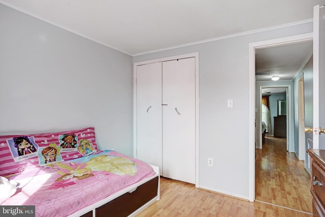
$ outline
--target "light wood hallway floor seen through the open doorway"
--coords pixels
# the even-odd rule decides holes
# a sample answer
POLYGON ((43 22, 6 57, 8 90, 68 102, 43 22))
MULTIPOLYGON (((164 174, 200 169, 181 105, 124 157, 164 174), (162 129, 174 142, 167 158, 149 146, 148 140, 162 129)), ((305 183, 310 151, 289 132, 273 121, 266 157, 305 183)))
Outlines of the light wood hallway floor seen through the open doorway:
POLYGON ((256 149, 255 200, 312 213, 310 177, 295 153, 286 151, 286 139, 266 136, 256 149))

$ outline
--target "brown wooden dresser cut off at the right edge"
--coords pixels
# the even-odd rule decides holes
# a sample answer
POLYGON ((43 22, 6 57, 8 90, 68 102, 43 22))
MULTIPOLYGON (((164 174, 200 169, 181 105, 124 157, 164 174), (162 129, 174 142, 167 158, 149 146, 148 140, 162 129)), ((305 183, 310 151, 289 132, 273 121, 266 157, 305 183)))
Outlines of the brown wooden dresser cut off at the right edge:
POLYGON ((325 150, 308 149, 313 216, 325 216, 325 150))

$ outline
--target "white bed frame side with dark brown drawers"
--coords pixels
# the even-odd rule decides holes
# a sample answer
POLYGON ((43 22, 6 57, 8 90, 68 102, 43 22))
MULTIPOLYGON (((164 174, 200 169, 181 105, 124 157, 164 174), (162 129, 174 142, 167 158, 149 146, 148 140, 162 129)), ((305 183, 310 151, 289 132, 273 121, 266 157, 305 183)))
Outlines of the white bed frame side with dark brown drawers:
POLYGON ((150 165, 155 175, 122 189, 69 217, 135 216, 160 199, 159 167, 150 165))

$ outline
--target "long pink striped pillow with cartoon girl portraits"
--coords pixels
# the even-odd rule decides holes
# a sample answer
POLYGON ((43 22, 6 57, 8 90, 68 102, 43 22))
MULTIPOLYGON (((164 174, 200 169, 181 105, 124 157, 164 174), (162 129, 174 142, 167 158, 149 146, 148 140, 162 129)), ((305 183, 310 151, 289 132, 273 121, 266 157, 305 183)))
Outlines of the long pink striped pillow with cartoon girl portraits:
POLYGON ((0 176, 96 152, 98 147, 93 127, 56 133, 0 136, 0 176), (51 151, 51 148, 55 151, 51 151))

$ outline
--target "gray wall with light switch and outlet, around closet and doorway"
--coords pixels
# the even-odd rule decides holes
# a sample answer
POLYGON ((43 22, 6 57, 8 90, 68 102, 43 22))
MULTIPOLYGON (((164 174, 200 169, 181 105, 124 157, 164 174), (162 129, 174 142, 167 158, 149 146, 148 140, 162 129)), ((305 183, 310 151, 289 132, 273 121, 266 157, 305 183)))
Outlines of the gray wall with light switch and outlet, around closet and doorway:
POLYGON ((312 32, 312 23, 155 52, 134 62, 199 52, 201 188, 248 198, 248 44, 312 32), (234 107, 227 108, 227 99, 234 107), (208 166, 213 158, 213 167, 208 166))

